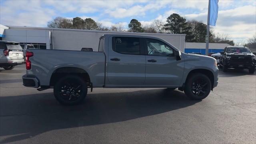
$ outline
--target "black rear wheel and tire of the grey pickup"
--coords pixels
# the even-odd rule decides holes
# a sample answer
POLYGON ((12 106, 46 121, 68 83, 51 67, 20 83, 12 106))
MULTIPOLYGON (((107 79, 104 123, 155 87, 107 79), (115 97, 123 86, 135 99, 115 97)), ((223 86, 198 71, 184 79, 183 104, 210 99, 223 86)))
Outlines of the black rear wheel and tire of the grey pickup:
POLYGON ((79 76, 64 76, 54 85, 54 96, 63 105, 79 104, 83 102, 86 95, 86 82, 79 76))

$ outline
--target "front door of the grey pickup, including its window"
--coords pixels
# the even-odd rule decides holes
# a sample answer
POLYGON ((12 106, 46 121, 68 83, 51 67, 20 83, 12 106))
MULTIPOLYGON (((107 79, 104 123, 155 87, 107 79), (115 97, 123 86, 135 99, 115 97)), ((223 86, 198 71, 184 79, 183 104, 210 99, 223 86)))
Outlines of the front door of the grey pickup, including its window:
POLYGON ((144 39, 146 85, 178 86, 184 72, 184 61, 176 60, 174 50, 156 39, 144 39))

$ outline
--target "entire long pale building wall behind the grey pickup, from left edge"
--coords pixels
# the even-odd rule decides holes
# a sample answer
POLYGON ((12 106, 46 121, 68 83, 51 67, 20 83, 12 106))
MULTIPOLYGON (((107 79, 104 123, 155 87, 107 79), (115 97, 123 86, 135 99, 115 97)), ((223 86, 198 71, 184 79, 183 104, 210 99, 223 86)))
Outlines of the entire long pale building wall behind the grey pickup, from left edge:
POLYGON ((24 26, 8 27, 9 29, 4 30, 6 36, 3 38, 3 40, 22 43, 45 43, 47 49, 81 50, 81 48, 93 48, 94 51, 97 51, 99 38, 103 34, 136 34, 153 36, 166 40, 183 52, 185 48, 185 34, 108 32, 24 26))

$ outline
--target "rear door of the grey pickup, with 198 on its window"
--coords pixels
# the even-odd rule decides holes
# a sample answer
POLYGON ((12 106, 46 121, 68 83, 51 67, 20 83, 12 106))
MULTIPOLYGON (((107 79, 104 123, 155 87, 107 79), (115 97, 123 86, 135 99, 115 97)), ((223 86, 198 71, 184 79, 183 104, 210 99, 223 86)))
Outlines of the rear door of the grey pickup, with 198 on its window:
POLYGON ((112 37, 112 48, 108 48, 107 85, 144 84, 145 68, 146 58, 141 38, 112 37))

